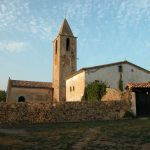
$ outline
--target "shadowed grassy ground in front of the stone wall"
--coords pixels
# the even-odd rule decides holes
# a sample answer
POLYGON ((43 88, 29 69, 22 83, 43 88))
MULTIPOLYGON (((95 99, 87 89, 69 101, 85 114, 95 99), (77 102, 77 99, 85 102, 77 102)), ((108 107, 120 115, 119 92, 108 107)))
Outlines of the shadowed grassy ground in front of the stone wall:
POLYGON ((0 150, 150 150, 150 118, 0 124, 0 150))

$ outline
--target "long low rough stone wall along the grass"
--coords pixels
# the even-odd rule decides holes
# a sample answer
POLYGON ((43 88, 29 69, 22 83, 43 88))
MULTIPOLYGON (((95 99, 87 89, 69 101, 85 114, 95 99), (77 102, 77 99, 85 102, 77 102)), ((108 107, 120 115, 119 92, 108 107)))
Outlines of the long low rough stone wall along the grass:
POLYGON ((127 101, 50 103, 0 103, 0 123, 54 123, 120 119, 127 101))

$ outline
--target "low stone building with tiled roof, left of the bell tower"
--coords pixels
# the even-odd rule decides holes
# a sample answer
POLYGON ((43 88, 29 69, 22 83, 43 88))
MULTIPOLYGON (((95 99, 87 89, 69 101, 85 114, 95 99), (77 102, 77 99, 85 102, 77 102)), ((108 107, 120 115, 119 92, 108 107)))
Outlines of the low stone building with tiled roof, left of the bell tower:
POLYGON ((10 80, 6 102, 53 102, 53 88, 48 82, 10 80))

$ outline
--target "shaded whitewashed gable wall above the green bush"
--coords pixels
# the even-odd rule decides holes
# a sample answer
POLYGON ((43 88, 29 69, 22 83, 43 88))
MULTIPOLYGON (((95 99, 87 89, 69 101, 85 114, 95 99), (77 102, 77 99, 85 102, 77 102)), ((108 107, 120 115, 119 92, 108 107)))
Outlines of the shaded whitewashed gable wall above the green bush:
MULTIPOLYGON (((107 83, 111 88, 118 89, 120 73, 118 71, 119 65, 108 66, 104 68, 90 69, 86 71, 85 83, 86 85, 95 80, 101 80, 107 83)), ((123 87, 129 82, 147 82, 150 81, 150 74, 134 67, 130 64, 122 64, 123 73, 123 87)))

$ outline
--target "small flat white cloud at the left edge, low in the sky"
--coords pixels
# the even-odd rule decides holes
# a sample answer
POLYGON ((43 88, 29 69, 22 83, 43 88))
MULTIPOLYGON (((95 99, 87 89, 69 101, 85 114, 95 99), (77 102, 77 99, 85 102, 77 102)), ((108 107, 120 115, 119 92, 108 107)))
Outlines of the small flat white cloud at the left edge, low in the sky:
POLYGON ((18 53, 25 51, 27 47, 28 44, 24 42, 0 42, 0 51, 3 52, 18 53))

